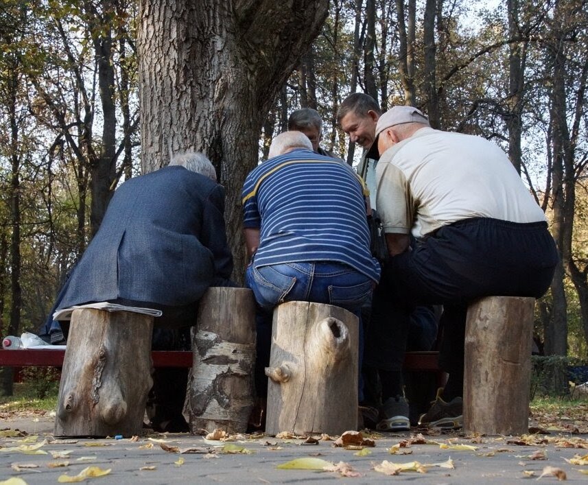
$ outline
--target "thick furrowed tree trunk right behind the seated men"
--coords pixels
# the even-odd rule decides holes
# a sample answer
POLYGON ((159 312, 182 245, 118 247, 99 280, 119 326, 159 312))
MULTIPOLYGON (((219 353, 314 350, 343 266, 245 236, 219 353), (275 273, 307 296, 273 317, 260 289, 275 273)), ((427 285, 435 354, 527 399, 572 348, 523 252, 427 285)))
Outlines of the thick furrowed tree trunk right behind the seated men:
POLYGON ((327 0, 141 0, 139 86, 144 172, 204 152, 226 187, 235 276, 245 266, 241 190, 261 125, 327 16, 327 0))

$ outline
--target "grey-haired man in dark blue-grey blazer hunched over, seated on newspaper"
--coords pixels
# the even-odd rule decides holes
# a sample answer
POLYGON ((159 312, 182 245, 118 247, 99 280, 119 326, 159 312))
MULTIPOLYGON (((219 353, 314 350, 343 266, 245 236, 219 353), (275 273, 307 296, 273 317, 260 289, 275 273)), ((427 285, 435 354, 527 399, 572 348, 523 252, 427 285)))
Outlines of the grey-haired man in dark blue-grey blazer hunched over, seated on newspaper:
MULTIPOLYGON (((54 311, 108 301, 163 311, 155 319, 153 347, 178 350, 180 340, 189 339, 180 329, 196 324, 198 300, 208 287, 232 285, 233 258, 223 213, 224 189, 216 183, 213 165, 199 153, 176 155, 167 167, 124 182, 62 287, 41 335, 51 343, 63 339, 54 311)), ((161 429, 161 423, 172 421, 166 430, 181 431, 185 421, 179 394, 185 394, 187 373, 182 379, 157 377, 156 400, 173 403, 162 406, 166 416, 152 421, 161 429), (165 385, 174 380, 174 386, 158 391, 158 381, 165 385)))

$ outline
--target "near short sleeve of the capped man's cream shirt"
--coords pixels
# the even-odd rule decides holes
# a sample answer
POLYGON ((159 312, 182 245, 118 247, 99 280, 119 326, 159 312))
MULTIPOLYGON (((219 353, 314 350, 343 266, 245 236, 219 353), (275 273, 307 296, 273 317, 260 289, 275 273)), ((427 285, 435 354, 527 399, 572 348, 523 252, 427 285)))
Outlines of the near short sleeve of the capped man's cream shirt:
POLYGON ((376 167, 376 182, 376 207, 384 233, 410 233, 412 196, 403 171, 380 159, 376 167))

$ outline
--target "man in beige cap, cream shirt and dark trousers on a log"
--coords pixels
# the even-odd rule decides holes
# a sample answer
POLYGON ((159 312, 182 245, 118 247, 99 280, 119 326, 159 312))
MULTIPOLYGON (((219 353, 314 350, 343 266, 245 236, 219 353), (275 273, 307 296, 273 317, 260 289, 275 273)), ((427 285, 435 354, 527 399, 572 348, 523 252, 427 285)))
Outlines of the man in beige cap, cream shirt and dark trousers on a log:
POLYGON ((392 301, 444 305, 440 365, 449 379, 419 424, 460 427, 468 303, 542 296, 558 261, 554 240, 508 156, 491 141, 434 130, 412 106, 384 113, 375 135, 392 301), (418 241, 412 250, 410 233, 418 241))

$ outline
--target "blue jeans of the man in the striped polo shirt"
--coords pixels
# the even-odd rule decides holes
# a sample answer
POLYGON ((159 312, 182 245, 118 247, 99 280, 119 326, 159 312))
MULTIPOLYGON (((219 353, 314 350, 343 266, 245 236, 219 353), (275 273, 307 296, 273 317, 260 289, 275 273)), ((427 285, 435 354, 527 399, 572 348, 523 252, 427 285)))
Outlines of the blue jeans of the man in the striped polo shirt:
MULTIPOLYGON (((369 298, 373 281, 364 274, 342 263, 285 263, 254 268, 249 265, 246 285, 253 290, 257 312, 257 359, 255 387, 258 396, 266 396, 267 378, 264 368, 270 365, 272 341, 272 311, 287 301, 327 303, 353 312, 360 319, 359 364, 362 368, 364 331, 360 310, 369 298)), ((360 372, 359 394, 363 400, 363 381, 360 372)))

